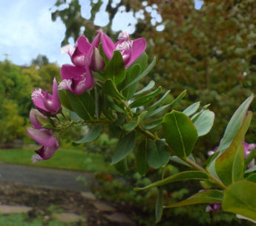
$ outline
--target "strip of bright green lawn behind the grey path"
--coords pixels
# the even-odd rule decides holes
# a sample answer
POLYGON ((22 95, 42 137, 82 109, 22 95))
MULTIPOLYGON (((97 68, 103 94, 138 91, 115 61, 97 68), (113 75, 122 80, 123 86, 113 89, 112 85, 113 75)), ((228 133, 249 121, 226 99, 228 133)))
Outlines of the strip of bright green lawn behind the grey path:
POLYGON ((0 149, 0 162, 90 172, 109 171, 112 169, 110 164, 104 162, 100 154, 88 153, 75 147, 61 147, 56 150, 51 159, 36 163, 31 162, 31 156, 34 154, 33 150, 32 148, 0 149))

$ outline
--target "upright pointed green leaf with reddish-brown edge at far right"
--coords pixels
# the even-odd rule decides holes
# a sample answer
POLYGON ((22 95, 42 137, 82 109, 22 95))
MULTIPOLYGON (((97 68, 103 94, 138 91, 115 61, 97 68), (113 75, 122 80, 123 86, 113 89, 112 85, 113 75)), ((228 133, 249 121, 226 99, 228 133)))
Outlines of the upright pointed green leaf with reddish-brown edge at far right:
POLYGON ((252 112, 249 112, 232 144, 229 145, 229 148, 224 153, 217 156, 215 170, 224 185, 230 185, 243 179, 244 136, 249 128, 251 119, 252 112))

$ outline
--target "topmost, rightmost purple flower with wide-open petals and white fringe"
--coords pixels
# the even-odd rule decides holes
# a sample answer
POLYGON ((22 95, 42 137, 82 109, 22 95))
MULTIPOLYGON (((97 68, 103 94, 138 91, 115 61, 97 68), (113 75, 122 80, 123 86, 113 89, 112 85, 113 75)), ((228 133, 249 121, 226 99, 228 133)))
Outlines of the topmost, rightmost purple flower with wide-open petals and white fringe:
POLYGON ((125 67, 129 67, 145 51, 146 41, 143 38, 130 40, 127 30, 120 33, 118 39, 119 41, 114 44, 105 33, 98 31, 92 45, 99 47, 99 43, 102 43, 102 49, 108 59, 112 58, 114 50, 119 50, 122 53, 125 67))

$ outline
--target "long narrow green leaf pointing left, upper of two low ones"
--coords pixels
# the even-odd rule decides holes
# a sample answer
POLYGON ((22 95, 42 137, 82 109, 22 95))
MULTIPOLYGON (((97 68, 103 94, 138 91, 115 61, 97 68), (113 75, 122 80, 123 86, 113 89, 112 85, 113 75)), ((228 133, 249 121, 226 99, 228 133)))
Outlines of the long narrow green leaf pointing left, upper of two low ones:
POLYGON ((172 182, 186 181, 191 179, 206 180, 206 179, 209 179, 209 176, 206 173, 203 173, 202 171, 199 171, 199 170, 189 170, 181 173, 176 173, 172 176, 168 176, 165 179, 162 179, 158 182, 154 182, 145 187, 135 187, 134 190, 145 190, 151 187, 159 187, 159 186, 170 184, 172 182))

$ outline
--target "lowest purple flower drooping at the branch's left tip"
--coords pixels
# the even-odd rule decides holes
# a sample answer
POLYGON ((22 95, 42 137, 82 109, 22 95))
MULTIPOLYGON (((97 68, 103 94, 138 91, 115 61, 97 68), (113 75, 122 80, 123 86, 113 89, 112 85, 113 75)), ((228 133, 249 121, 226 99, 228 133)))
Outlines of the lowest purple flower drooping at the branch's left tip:
POLYGON ((42 127, 39 118, 46 120, 47 118, 38 110, 30 110, 30 122, 33 127, 27 127, 27 134, 36 142, 42 145, 39 150, 35 150, 36 154, 32 156, 33 162, 38 162, 44 159, 50 159, 55 151, 59 148, 59 140, 56 139, 52 130, 47 130, 42 127))

